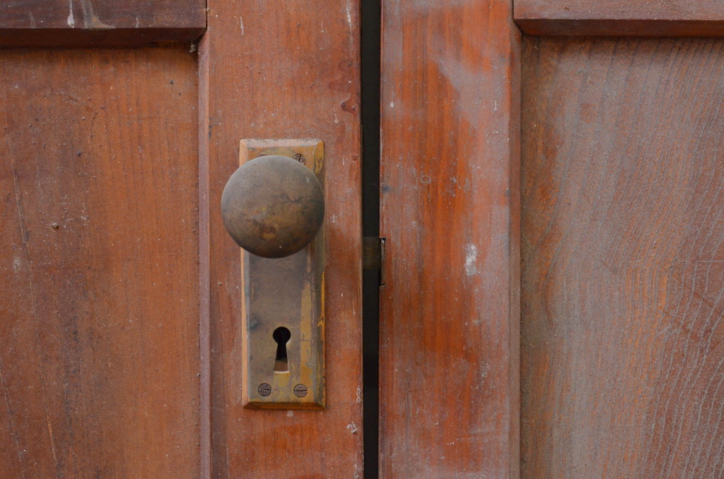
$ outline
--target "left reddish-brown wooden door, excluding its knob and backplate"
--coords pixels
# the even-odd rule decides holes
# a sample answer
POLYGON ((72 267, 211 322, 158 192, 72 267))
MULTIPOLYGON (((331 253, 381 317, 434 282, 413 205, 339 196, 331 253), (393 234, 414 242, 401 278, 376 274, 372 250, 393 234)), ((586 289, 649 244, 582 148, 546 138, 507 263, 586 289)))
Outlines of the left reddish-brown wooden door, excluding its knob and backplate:
POLYGON ((0 475, 361 477, 358 5, 0 7, 0 475), (245 410, 241 138, 324 140, 327 410, 245 410))

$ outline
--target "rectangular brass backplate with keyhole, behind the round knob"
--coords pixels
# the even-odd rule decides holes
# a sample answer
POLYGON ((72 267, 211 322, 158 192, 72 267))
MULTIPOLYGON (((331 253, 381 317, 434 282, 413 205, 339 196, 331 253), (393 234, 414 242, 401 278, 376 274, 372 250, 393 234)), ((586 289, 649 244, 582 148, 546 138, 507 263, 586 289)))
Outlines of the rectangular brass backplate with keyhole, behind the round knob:
MULTIPOLYGON (((240 164, 264 155, 295 158, 324 189, 320 140, 241 140, 240 164)), ((244 406, 324 409, 324 225, 307 247, 286 258, 241 251, 244 406), (290 332, 286 364, 277 361, 277 328, 290 332)))

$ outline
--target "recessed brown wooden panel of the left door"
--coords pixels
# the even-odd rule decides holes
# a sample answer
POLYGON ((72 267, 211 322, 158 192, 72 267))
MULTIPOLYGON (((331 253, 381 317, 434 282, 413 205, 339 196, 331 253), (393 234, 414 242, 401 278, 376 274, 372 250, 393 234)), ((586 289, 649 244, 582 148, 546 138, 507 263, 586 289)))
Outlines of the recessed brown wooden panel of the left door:
POLYGON ((197 478, 195 59, 0 56, 0 475, 197 478))

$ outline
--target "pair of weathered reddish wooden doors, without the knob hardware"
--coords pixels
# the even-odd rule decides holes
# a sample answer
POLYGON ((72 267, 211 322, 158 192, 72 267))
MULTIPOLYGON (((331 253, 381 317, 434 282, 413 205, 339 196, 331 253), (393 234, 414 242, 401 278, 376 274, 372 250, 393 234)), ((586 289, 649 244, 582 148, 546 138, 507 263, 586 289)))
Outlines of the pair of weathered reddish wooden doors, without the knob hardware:
POLYGON ((382 2, 376 461, 359 9, 0 7, 2 477, 724 477, 724 7, 382 2), (219 199, 308 137, 327 408, 249 410, 219 199))

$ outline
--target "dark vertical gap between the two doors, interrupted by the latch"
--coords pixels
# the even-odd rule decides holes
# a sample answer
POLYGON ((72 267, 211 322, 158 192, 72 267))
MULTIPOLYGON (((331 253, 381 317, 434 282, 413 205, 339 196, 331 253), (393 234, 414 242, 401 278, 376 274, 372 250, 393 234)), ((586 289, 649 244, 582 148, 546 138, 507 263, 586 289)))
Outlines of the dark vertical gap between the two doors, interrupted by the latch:
MULTIPOLYGON (((379 237, 379 85, 381 0, 361 1, 363 234, 379 237)), ((364 477, 379 477, 379 271, 362 279, 364 477)))

